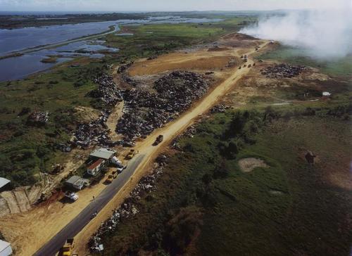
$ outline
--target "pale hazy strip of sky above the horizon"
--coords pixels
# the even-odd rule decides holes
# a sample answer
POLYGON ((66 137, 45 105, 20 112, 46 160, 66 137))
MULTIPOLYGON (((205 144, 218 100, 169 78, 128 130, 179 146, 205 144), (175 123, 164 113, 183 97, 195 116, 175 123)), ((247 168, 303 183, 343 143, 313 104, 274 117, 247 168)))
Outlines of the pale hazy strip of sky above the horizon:
POLYGON ((0 0, 0 11, 260 11, 342 6, 352 6, 352 0, 0 0))

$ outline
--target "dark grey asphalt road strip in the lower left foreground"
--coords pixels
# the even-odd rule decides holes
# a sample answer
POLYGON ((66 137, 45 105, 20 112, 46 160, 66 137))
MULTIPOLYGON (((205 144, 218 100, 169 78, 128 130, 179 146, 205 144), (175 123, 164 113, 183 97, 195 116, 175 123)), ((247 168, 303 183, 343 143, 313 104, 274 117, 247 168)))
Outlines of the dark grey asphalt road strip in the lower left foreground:
MULTIPOLYGON (((51 256, 56 255, 56 252, 60 250, 67 238, 75 237, 84 226, 86 226, 94 212, 99 212, 103 207, 115 196, 118 191, 126 184, 126 182, 132 177, 134 171, 138 165, 142 162, 145 155, 137 155, 132 159, 128 167, 121 173, 118 174, 118 178, 113 181, 112 184, 106 186, 101 191, 100 195, 92 200, 87 207, 80 212, 75 219, 67 224, 60 232, 56 234, 51 240, 40 248, 34 255, 35 256, 51 256)), ((78 199, 80 200, 80 199, 78 199)))

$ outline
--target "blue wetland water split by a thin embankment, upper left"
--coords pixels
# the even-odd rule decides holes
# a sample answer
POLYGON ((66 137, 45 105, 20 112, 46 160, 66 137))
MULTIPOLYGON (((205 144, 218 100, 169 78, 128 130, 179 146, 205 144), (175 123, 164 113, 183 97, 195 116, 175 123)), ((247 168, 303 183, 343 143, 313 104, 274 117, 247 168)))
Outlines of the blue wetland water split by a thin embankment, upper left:
MULTIPOLYGON (((145 23, 213 23, 220 19, 198 19, 181 17, 155 17, 147 20, 115 20, 99 23, 80 23, 73 25, 53 25, 46 27, 25 27, 15 30, 0 30, 0 56, 9 53, 25 51, 38 46, 48 44, 60 44, 65 41, 87 37, 92 34, 108 31, 109 27, 122 24, 145 24, 145 23)), ((127 34, 125 34, 127 35, 127 34)), ((133 36, 133 34, 128 34, 133 36)), ((90 58, 102 58, 101 51, 115 52, 118 49, 108 48, 101 40, 73 41, 64 46, 53 49, 42 49, 23 56, 5 58, 0 60, 0 82, 14 79, 23 79, 28 75, 52 68, 57 63, 73 60, 77 56, 89 56, 90 58), (42 63, 46 56, 58 56, 57 63, 42 63)))

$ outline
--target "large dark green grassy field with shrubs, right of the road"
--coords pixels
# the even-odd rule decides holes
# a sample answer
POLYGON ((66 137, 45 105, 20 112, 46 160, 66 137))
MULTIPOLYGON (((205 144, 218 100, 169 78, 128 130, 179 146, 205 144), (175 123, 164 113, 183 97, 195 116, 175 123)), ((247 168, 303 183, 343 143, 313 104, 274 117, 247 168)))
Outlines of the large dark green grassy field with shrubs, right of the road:
POLYGON ((170 158, 139 214, 106 237, 105 255, 348 255, 352 195, 329 174, 348 179, 350 127, 319 110, 214 115, 180 140, 183 153, 170 158), (242 158, 268 168, 241 172, 242 158))

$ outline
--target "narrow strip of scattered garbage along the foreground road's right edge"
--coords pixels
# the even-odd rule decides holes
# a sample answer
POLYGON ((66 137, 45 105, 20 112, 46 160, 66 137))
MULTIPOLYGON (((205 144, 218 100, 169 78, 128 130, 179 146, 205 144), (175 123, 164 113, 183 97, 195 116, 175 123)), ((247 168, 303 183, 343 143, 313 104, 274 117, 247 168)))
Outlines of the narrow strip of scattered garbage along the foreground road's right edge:
POLYGON ((113 215, 103 222, 98 231, 94 233, 89 241, 91 252, 101 252, 103 250, 103 236, 115 231, 118 224, 123 222, 124 219, 128 219, 139 212, 137 208, 138 200, 147 193, 156 190, 156 180, 161 177, 161 174, 163 174, 163 165, 158 165, 152 170, 151 174, 146 175, 139 181, 130 193, 130 197, 126 198, 120 208, 113 211, 113 215))

